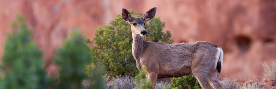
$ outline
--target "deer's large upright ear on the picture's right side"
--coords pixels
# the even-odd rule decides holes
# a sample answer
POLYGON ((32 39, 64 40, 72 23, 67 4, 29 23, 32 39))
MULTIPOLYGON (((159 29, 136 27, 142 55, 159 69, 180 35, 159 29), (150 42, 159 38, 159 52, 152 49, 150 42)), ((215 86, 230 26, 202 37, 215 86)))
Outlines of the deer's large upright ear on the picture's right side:
POLYGON ((150 9, 149 11, 147 11, 142 17, 141 19, 143 19, 143 21, 150 21, 153 19, 153 17, 155 16, 157 7, 154 7, 152 9, 150 9))

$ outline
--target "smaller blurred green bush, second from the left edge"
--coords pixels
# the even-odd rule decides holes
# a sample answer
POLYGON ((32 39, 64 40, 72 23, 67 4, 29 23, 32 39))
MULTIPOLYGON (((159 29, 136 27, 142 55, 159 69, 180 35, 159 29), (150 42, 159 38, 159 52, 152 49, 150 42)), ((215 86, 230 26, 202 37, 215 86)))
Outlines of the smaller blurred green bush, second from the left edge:
MULTIPOLYGON (((56 87, 63 89, 79 89, 82 88, 81 81, 88 78, 84 73, 85 64, 88 64, 94 59, 89 54, 89 48, 84 43, 81 34, 77 31, 73 31, 71 39, 65 41, 62 49, 57 50, 54 60, 61 69, 60 82, 56 87)), ((103 81, 97 81, 96 83, 101 82, 103 81)))

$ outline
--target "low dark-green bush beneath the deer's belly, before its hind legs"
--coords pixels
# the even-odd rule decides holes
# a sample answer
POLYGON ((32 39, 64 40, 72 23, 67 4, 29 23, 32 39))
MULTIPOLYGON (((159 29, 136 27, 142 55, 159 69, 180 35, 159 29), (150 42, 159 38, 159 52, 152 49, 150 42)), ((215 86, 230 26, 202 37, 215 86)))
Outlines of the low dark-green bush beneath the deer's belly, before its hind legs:
POLYGON ((170 83, 170 89, 175 87, 179 89, 202 89, 193 75, 171 78, 171 80, 172 82, 170 83))

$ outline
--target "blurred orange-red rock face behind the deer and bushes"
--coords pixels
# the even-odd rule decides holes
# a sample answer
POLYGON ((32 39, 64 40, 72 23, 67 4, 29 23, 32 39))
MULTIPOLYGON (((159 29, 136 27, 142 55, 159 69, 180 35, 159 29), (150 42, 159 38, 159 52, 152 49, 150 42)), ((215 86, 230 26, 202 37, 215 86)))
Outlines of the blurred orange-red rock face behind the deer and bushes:
MULTIPOLYGON (((144 13, 157 6, 156 16, 166 22, 175 43, 210 41, 224 52, 221 76, 262 79, 263 68, 276 55, 276 1, 273 0, 1 0, 0 56, 10 23, 22 14, 33 29, 34 39, 51 66, 56 46, 68 38, 70 30, 81 29, 92 39, 95 30, 108 24, 121 8, 144 13)), ((52 68, 50 68, 52 69, 52 68)), ((50 71, 50 70, 49 70, 50 71)))

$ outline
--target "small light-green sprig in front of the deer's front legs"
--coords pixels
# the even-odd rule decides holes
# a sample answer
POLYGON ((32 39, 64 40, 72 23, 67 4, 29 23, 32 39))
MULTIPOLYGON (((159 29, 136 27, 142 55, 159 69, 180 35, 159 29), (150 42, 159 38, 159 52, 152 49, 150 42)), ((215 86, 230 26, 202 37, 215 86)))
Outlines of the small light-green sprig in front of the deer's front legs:
POLYGON ((146 76, 146 68, 142 67, 142 70, 135 76, 135 85, 139 89, 154 89, 152 82, 146 76))

